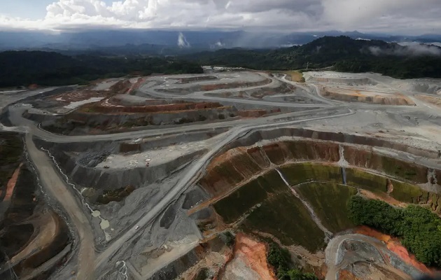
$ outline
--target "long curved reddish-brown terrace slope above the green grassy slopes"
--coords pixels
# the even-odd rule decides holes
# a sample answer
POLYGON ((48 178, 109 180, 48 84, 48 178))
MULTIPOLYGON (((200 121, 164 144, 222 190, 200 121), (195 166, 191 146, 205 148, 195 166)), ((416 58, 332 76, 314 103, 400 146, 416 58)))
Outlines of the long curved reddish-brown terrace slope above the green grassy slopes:
MULTIPOLYGON (((427 183, 428 168, 412 162, 374 153, 370 148, 344 146, 344 158, 351 166, 384 172, 388 176, 412 184, 427 183)), ((221 197, 257 174, 289 162, 338 162, 339 144, 330 141, 281 141, 266 146, 232 148, 211 160, 199 181, 211 197, 221 197)), ((437 176, 441 175, 436 170, 437 176)), ((385 186, 386 187, 386 186, 385 186)), ((388 197, 388 200, 392 200, 388 197)), ((433 211, 441 209, 441 196, 435 194, 417 197, 418 203, 428 203, 433 211)), ((398 203, 398 202, 396 202, 398 203)))

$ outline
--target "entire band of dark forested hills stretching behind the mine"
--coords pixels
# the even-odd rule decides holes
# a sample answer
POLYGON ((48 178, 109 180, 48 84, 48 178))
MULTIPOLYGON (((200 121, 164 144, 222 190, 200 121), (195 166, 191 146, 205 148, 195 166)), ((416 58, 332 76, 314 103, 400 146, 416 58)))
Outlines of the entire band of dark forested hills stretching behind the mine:
MULTIPOLYGON (((181 38, 188 50, 189 38, 181 38)), ((157 45, 151 45, 153 50, 157 45)), ((138 47, 134 47, 138 48, 138 47)), ((163 47, 171 50, 171 47, 163 47)), ((123 51, 127 47, 106 47, 123 51)), ((67 51, 64 51, 67 52, 67 51)), ((76 52, 76 51, 70 51, 76 52)), ((176 57, 110 56, 102 51, 63 55, 43 51, 0 52, 0 87, 64 85, 97 78, 151 73, 202 73, 201 65, 240 66, 256 70, 332 69, 376 72, 395 78, 441 78, 441 48, 435 45, 399 45, 349 36, 323 36, 289 48, 230 48, 194 52, 176 57)))

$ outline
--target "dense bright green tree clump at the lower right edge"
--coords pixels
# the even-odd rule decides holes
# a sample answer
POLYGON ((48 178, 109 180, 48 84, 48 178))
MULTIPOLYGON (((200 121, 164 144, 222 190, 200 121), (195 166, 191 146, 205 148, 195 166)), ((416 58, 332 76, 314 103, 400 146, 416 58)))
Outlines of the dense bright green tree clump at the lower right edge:
POLYGON ((416 205, 398 209, 380 200, 358 196, 351 198, 348 210, 356 225, 368 225, 400 237, 417 260, 431 267, 441 267, 441 219, 430 210, 416 205))

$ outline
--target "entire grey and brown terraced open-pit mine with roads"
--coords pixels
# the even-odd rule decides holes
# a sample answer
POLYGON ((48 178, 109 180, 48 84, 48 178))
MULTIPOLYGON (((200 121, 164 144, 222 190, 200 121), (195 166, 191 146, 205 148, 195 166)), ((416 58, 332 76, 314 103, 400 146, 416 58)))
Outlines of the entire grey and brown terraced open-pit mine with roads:
POLYGON ((437 274, 441 80, 204 69, 0 91, 0 279, 437 274))

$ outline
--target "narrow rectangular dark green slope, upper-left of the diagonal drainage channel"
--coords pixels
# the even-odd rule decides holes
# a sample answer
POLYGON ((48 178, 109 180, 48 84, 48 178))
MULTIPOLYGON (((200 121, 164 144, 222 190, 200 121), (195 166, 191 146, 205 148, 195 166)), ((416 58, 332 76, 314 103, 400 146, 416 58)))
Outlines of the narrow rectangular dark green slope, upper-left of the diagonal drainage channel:
POLYGON ((246 211, 266 200, 269 194, 288 190, 275 170, 246 183, 228 197, 214 204, 216 212, 225 223, 234 223, 246 211))

